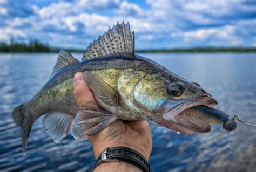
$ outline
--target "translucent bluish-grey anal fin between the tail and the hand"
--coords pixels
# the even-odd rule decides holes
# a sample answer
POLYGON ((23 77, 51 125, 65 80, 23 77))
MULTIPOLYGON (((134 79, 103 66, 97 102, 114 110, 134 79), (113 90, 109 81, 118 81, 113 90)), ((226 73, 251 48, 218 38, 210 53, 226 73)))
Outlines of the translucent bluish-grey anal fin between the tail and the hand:
POLYGON ((43 118, 43 127, 55 142, 62 140, 69 131, 73 116, 62 112, 47 113, 43 118))

